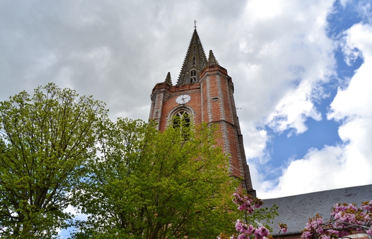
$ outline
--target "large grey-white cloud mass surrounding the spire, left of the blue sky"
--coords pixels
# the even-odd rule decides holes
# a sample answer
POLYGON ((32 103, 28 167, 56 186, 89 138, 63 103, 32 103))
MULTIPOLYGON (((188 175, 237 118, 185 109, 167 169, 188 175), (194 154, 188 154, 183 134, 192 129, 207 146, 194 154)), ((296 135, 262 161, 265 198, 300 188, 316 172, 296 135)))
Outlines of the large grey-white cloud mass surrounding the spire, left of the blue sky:
MULTIPOLYGON (((113 119, 146 120, 153 86, 168 71, 177 81, 196 19, 205 50, 233 78, 245 142, 266 124, 301 133, 307 117, 320 120, 314 88, 334 73, 333 1, 9 2, 0 9, 8 22, 0 25, 0 99, 54 81, 106 102, 113 119)), ((265 155, 262 140, 245 145, 249 157, 265 155)))

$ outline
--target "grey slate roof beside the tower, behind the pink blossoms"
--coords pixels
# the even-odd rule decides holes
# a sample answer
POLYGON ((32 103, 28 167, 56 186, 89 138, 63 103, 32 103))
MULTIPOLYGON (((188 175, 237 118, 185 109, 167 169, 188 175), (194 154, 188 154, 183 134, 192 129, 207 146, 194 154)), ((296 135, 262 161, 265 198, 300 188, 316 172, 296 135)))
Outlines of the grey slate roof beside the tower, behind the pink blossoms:
MULTIPOLYGON (((288 226, 286 234, 294 234, 302 231, 309 218, 320 214, 323 220, 328 221, 333 205, 335 203, 356 203, 372 200, 372 184, 358 187, 327 190, 315 193, 300 194, 282 198, 263 199, 263 206, 271 207, 273 204, 279 206, 279 216, 275 218, 272 225, 275 235, 278 233, 278 223, 288 226)), ((285 235, 285 233, 280 233, 285 235)))

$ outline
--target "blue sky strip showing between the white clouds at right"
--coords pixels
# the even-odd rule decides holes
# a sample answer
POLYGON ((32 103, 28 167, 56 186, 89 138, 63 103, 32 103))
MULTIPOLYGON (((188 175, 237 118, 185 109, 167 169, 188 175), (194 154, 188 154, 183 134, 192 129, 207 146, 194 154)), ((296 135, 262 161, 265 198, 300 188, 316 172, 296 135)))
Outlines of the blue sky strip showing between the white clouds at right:
MULTIPOLYGON (((334 41, 339 41, 342 38, 342 33, 349 29, 352 25, 362 21, 356 4, 349 3, 343 7, 340 1, 334 3, 334 10, 327 17, 328 32, 327 35, 334 41)), ((270 154, 271 161, 268 163, 272 169, 268 173, 268 168, 258 169, 260 173, 265 174, 265 179, 275 179, 280 176, 281 171, 277 170, 285 166, 289 161, 303 158, 309 149, 322 149, 325 145, 335 146, 342 143, 338 135, 338 127, 341 122, 327 119, 330 104, 337 94, 338 87, 345 88, 349 79, 354 75, 363 63, 363 59, 358 57, 351 65, 344 61, 344 53, 341 46, 337 47, 334 52, 336 60, 336 77, 324 84, 324 95, 327 97, 320 101, 315 101, 315 107, 322 114, 322 120, 316 121, 311 117, 307 118, 305 125, 307 130, 303 134, 292 134, 293 128, 289 128, 283 132, 274 132, 271 128, 266 127, 268 135, 271 136, 267 151, 270 154), (289 137, 288 137, 289 135, 289 137), (276 170, 275 170, 276 169, 276 170)))

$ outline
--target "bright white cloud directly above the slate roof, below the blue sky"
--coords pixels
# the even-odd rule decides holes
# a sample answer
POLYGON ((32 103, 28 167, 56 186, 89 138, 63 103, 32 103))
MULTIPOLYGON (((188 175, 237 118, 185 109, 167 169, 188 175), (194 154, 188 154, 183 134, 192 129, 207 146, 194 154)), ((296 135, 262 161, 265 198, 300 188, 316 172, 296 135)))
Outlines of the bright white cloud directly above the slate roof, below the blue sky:
MULTIPOLYGON (((302 160, 283 170, 277 185, 262 188, 271 198, 372 183, 372 25, 358 23, 345 32, 346 49, 358 49, 364 59, 347 89, 338 89, 329 119, 342 120, 342 144, 310 149, 302 160), (301 180, 298 180, 301 179, 301 180)), ((351 52, 351 53, 350 53, 351 52)), ((346 54, 353 51, 346 50, 346 54)))

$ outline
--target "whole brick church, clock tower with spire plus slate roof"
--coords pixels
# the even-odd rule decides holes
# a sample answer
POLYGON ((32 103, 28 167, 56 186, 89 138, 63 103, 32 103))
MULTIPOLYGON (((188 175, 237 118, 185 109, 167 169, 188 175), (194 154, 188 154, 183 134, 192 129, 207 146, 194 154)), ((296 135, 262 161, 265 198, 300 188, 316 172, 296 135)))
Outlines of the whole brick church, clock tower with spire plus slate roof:
MULTIPOLYGON (((227 70, 219 65, 212 50, 205 56, 200 38, 194 30, 189 48, 178 76, 172 84, 168 72, 163 83, 158 83, 151 93, 150 120, 157 122, 157 129, 164 131, 173 116, 192 119, 196 124, 205 121, 218 124, 221 138, 217 144, 229 155, 231 176, 243 178, 243 187, 256 197, 243 145, 243 135, 236 115, 234 84, 227 70)), ((259 197, 259 195, 258 195, 259 197)), ((264 206, 279 206, 272 228, 273 236, 278 223, 288 225, 281 238, 300 238, 301 230, 310 217, 316 214, 328 220, 335 203, 356 203, 372 200, 372 184, 282 198, 263 199, 264 206)), ((366 233, 350 235, 350 238, 372 239, 366 233)))

